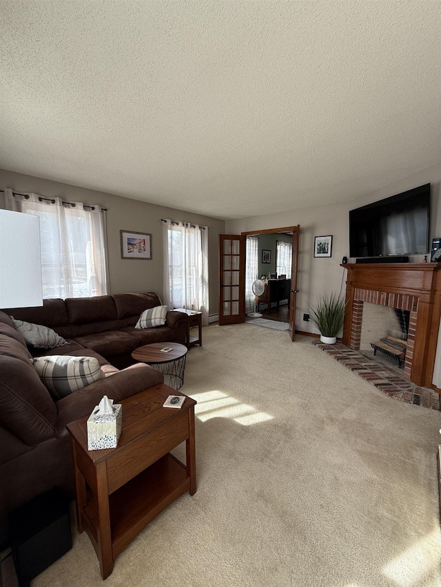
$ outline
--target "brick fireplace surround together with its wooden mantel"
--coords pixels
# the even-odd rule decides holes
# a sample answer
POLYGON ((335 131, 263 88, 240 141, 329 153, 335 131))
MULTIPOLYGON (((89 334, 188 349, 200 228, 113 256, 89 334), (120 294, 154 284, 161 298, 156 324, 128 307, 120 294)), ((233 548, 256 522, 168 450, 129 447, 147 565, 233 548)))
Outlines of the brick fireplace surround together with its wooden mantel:
POLYGON ((441 265, 434 263, 347 264, 342 343, 360 349, 365 303, 409 312, 404 373, 416 385, 433 387, 441 315, 441 265))

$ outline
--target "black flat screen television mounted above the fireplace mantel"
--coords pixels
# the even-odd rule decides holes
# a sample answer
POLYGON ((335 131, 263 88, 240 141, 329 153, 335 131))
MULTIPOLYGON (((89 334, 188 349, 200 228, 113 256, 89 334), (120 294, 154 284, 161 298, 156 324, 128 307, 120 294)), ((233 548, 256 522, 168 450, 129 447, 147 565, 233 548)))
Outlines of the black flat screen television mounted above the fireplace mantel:
POLYGON ((420 255, 429 248, 430 184, 349 211, 349 257, 420 255))

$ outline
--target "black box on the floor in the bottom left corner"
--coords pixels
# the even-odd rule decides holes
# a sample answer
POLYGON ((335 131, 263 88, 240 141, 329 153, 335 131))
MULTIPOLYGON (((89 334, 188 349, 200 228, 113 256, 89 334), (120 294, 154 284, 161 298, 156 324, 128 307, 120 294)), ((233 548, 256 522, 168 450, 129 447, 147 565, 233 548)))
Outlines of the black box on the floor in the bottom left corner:
POLYGON ((69 500, 50 489, 10 514, 12 557, 20 587, 72 548, 69 500))

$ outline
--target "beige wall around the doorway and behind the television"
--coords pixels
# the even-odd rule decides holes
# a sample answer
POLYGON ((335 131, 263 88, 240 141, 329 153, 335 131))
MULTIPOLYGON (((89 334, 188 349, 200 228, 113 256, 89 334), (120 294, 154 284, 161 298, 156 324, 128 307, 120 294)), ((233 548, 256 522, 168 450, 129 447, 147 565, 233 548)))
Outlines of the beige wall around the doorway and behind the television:
MULTIPOLYGON (((346 271, 340 267, 340 263, 342 257, 349 256, 349 210, 425 183, 431 183, 431 240, 441 236, 441 162, 356 200, 227 220, 226 230, 228 234, 240 234, 300 224, 296 329, 317 332, 311 322, 302 321, 302 315, 304 312, 309 313, 308 303, 314 303, 320 293, 331 290, 339 292, 340 288, 345 290, 346 271), (333 236, 331 258, 313 257, 314 237, 320 235, 333 236)), ((411 257, 411 261, 420 262, 423 257, 417 255, 411 257)))

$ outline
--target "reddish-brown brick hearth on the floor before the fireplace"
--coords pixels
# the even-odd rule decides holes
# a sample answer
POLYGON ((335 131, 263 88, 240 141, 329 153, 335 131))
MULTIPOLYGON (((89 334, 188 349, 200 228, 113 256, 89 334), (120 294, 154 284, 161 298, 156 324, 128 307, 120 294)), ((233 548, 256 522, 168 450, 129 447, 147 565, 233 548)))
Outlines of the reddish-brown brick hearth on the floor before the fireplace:
POLYGON ((375 385, 387 396, 405 403, 440 410, 440 395, 433 389, 418 387, 418 385, 411 383, 404 374, 400 375, 396 370, 389 369, 373 359, 368 359, 360 352, 352 350, 342 343, 325 345, 317 341, 314 344, 342 365, 375 385))

